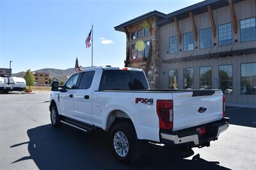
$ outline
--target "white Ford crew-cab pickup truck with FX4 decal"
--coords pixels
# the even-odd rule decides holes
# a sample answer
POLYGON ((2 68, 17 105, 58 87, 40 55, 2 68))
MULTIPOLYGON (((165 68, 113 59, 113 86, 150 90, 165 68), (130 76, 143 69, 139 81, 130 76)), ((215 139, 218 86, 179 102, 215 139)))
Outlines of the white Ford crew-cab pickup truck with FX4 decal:
POLYGON ((52 82, 49 109, 54 127, 109 132, 124 163, 136 160, 145 142, 201 148, 228 128, 221 90, 150 89, 137 68, 92 67, 63 86, 52 82))

